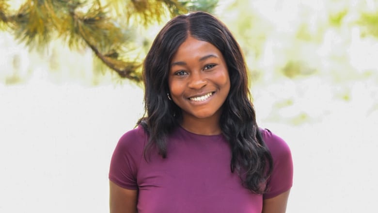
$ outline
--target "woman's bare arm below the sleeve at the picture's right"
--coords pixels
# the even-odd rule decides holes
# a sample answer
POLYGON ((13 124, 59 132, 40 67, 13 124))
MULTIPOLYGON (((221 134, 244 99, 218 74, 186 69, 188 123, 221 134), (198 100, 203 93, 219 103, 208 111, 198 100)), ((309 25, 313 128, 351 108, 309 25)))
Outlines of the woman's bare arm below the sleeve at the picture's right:
POLYGON ((285 213, 289 193, 290 189, 276 197, 265 199, 262 213, 285 213))

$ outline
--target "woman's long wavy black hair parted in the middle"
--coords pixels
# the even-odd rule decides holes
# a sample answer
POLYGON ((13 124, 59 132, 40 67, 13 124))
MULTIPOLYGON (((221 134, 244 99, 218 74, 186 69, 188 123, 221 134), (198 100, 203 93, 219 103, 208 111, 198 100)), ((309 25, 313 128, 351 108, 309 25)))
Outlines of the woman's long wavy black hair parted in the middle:
POLYGON ((166 137, 182 119, 181 109, 167 97, 168 73, 173 55, 189 35, 214 45, 223 54, 231 85, 222 106, 220 126, 231 147, 231 171, 238 173, 244 187, 264 193, 272 157, 256 124, 244 57, 232 33, 210 14, 195 12, 171 19, 157 34, 145 58, 145 116, 138 121, 149 134, 145 153, 155 146, 165 158, 166 137))

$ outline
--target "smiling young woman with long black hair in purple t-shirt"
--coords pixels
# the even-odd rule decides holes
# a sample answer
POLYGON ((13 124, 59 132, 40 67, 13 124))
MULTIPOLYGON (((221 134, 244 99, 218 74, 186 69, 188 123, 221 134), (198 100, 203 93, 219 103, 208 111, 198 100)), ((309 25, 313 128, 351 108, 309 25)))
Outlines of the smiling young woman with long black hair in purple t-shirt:
POLYGON ((286 211, 290 149, 257 126, 243 55, 220 20, 173 18, 143 75, 145 117, 111 159, 111 213, 286 211))

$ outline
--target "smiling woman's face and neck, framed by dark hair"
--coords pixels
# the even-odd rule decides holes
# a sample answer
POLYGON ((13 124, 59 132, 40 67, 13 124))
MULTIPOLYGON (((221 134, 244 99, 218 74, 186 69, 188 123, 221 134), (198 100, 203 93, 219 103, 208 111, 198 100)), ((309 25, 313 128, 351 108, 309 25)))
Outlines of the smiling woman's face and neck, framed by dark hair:
POLYGON ((173 55, 170 94, 186 119, 219 119, 230 91, 227 65, 219 49, 189 36, 173 55))

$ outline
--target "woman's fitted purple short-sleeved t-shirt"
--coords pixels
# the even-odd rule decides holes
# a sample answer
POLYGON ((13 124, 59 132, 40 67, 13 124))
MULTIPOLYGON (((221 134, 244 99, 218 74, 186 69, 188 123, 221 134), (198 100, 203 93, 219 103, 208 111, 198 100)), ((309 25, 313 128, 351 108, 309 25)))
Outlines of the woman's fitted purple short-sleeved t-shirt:
POLYGON ((179 127, 167 141, 167 158, 143 148, 147 136, 141 126, 119 140, 110 163, 109 179, 139 190, 138 213, 261 213, 263 199, 289 190, 293 163, 287 144, 268 130, 262 136, 273 157, 267 194, 251 193, 231 173, 231 151, 220 135, 198 135, 179 127))

